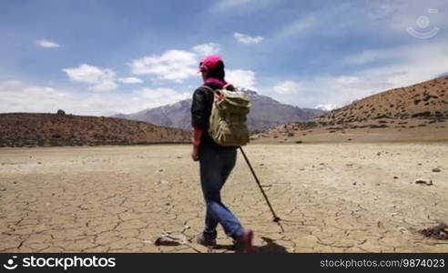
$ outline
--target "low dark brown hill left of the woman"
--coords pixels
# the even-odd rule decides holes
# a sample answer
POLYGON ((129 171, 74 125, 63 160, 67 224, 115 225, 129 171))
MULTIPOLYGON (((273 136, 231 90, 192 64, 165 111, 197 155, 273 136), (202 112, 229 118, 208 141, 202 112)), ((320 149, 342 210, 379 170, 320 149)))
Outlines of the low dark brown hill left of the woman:
POLYGON ((0 114, 0 147, 97 146, 188 142, 187 130, 145 122, 57 114, 0 114))

